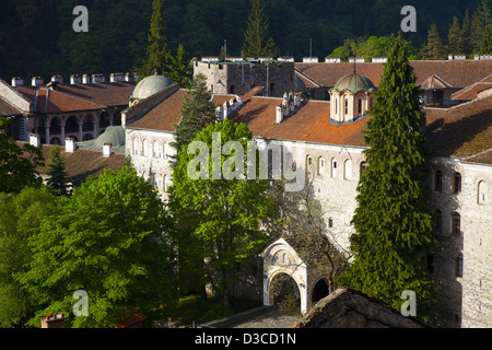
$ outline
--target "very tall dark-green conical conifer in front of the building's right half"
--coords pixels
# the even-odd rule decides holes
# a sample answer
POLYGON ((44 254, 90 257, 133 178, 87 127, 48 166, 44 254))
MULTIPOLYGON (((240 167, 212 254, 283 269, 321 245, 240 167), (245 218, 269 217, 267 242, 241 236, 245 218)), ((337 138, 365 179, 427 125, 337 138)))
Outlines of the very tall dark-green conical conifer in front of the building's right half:
POLYGON ((438 243, 424 202, 427 153, 415 75, 399 37, 391 49, 371 109, 364 139, 368 166, 358 186, 351 236, 352 266, 339 283, 398 311, 405 290, 415 292, 418 316, 435 291, 425 259, 438 243))

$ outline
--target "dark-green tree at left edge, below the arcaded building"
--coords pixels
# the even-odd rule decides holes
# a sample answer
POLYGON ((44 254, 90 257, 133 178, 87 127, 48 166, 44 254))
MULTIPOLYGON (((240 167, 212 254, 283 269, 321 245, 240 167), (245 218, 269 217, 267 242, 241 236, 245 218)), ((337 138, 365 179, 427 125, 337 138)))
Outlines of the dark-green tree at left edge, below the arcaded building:
POLYGON ((20 192, 25 186, 39 187, 43 178, 36 171, 43 165, 42 148, 22 147, 7 135, 9 119, 0 117, 0 192, 20 192))

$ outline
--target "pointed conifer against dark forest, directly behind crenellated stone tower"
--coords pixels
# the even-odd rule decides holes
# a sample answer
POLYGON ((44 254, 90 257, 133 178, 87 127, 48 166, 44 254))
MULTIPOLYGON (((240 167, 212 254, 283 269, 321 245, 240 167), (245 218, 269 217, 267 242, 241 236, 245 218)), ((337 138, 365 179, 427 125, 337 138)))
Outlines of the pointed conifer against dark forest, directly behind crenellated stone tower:
POLYGON ((253 0, 247 24, 248 27, 244 33, 244 55, 253 58, 278 57, 279 49, 273 38, 268 37, 268 19, 263 13, 263 5, 260 0, 253 0))

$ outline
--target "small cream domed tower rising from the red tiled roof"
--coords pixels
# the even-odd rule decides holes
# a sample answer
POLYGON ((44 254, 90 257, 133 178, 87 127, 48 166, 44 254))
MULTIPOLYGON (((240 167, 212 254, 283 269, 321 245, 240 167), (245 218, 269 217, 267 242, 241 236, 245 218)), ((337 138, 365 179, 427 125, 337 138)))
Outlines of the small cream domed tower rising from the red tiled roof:
POLYGON ((374 104, 373 82, 364 75, 347 74, 330 90, 330 121, 343 124, 363 117, 374 104))

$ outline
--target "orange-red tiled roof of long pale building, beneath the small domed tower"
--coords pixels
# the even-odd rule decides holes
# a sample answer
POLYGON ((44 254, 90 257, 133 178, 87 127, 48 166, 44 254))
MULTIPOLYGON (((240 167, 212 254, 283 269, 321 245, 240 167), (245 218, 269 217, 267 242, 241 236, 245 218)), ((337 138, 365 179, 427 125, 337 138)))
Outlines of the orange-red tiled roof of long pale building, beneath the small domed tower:
MULTIPOLYGON (((174 131, 180 120, 179 107, 187 91, 179 90, 129 127, 174 131)), ((225 101, 231 96, 214 96, 225 101)), ((371 117, 336 126, 328 121, 330 103, 311 100, 281 124, 276 124, 279 97, 248 97, 232 120, 244 122, 255 137, 324 144, 366 147, 363 131, 371 117)), ((492 96, 452 108, 425 108, 427 139, 435 156, 470 159, 492 148, 492 96)), ((492 152, 490 152, 492 156, 492 152)), ((477 158, 491 163, 487 156, 477 158)), ((476 161, 477 161, 476 160, 476 161)))

